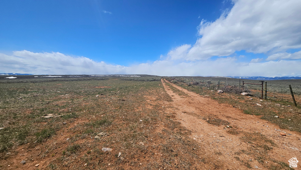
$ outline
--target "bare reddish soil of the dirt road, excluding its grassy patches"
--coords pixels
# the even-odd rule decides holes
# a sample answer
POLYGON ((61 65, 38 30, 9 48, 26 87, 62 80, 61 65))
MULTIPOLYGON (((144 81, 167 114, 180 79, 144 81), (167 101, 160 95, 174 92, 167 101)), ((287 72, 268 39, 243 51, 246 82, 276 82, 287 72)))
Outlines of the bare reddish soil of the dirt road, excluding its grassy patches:
MULTIPOLYGON (((219 104, 215 100, 201 97, 194 92, 170 83, 173 87, 189 95, 188 97, 179 96, 166 85, 163 79, 161 82, 166 92, 173 99, 172 105, 175 109, 170 109, 169 112, 176 114, 175 121, 181 122, 182 126, 191 130, 191 138, 196 140, 199 146, 206 150, 207 156, 221 161, 224 169, 247 169, 247 167, 242 167, 241 163, 234 157, 237 156, 235 152, 247 150, 252 144, 241 140, 240 135, 226 133, 225 126, 209 124, 202 117, 215 117, 226 120, 230 122, 229 126, 237 127, 237 130, 240 132, 263 134, 277 145, 273 146, 273 149, 268 152, 270 158, 287 164, 289 164, 288 160, 292 157, 301 159, 300 133, 290 131, 286 133, 286 136, 281 136, 280 133, 288 130, 280 129, 277 125, 260 119, 260 116, 244 114, 241 110, 228 104, 219 104)), ((252 159, 249 162, 252 168, 257 166, 258 168, 266 169, 252 155, 240 154, 239 157, 242 157, 244 160, 252 159)), ((271 165, 274 162, 267 161, 264 163, 271 165)))

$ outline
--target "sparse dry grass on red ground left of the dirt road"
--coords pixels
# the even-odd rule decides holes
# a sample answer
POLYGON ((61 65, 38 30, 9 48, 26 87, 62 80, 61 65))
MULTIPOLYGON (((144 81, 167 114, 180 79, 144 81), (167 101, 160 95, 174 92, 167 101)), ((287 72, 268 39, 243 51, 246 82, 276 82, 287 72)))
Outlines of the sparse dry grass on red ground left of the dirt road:
POLYGON ((40 169, 107 169, 109 164, 111 169, 198 169, 210 164, 199 156, 204 151, 191 132, 165 112, 162 103, 172 99, 160 81, 18 82, 0 90, 5 127, 0 168, 30 169, 39 163, 40 169), (95 139, 101 132, 106 136, 95 139), (112 150, 103 152, 104 147, 112 150))

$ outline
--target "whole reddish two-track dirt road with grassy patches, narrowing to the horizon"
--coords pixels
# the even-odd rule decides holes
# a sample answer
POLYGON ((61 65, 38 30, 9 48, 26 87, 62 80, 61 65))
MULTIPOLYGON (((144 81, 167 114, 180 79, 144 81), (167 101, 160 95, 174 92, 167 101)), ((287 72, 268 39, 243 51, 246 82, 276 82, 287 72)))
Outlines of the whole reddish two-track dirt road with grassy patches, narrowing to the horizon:
POLYGON ((244 114, 230 105, 219 104, 171 83, 187 94, 180 96, 166 85, 166 80, 161 81, 173 99, 173 108, 167 111, 174 113, 174 120, 192 131, 191 138, 206 151, 207 157, 222 164, 223 169, 271 169, 279 162, 289 165, 292 157, 301 160, 299 133, 280 129, 260 116, 244 114), (217 126, 209 124, 209 119, 230 124, 217 126))

